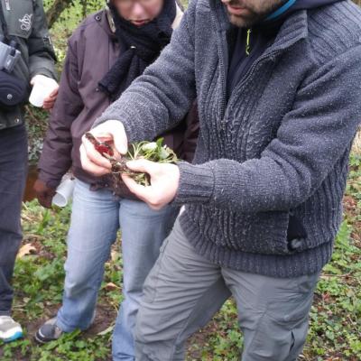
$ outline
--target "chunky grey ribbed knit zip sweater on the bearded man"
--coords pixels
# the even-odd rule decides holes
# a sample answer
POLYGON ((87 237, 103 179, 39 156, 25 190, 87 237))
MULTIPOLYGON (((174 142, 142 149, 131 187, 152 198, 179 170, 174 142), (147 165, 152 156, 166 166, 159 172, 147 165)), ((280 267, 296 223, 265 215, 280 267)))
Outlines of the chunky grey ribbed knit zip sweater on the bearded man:
POLYGON ((96 125, 153 139, 197 96, 194 164, 180 163, 180 224, 211 262, 295 277, 329 262, 361 119, 361 12, 350 1, 292 14, 226 100, 219 0, 193 0, 171 44, 96 125), (287 237, 290 217, 305 235, 287 237))

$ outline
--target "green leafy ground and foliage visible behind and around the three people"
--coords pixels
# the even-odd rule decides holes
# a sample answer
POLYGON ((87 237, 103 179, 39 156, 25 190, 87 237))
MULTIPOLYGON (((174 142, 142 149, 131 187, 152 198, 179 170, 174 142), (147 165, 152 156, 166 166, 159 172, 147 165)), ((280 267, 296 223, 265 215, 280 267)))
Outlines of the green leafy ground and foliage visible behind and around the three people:
MULTIPOLYGON (((70 33, 85 16, 105 3, 105 0, 44 0, 60 71, 70 33)), ((361 0, 356 3, 361 4, 361 0)), ((48 114, 28 106, 27 118, 29 156, 31 162, 36 162, 48 114)), ((310 312, 310 334, 300 360, 361 360, 360 134, 350 160, 344 205, 345 220, 338 233, 332 262, 325 267, 319 281, 310 312)), ((69 214, 69 207, 46 210, 36 200, 23 204, 24 237, 14 274, 14 318, 22 322, 25 338, 11 344, 0 343, 2 361, 111 360, 111 334, 122 300, 120 234, 106 263, 94 326, 84 334, 75 331, 46 346, 38 346, 33 341, 33 334, 42 321, 60 307, 69 214)), ((242 343, 236 305, 229 300, 208 327, 190 339, 187 361, 236 361, 242 343)))

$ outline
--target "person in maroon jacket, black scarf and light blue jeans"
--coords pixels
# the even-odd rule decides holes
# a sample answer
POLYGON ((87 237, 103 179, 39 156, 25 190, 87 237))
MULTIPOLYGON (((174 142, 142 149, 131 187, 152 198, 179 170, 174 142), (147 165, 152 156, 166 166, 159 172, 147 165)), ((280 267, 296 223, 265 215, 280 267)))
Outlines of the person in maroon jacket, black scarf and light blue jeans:
MULTIPOLYGON (((81 136, 97 116, 170 42, 181 15, 174 0, 114 0, 105 10, 90 15, 69 39, 59 96, 34 186, 42 206, 51 207, 55 190, 69 168, 76 180, 63 302, 57 316, 36 333, 39 342, 89 328, 95 317, 104 264, 120 227, 125 300, 116 320, 113 356, 115 360, 134 359, 133 329, 143 282, 179 209, 168 206, 155 211, 134 199, 125 187, 115 194, 109 178, 96 178, 82 170, 79 146, 81 136)), ((190 160, 197 132, 194 108, 179 127, 162 136, 181 158, 190 160)))

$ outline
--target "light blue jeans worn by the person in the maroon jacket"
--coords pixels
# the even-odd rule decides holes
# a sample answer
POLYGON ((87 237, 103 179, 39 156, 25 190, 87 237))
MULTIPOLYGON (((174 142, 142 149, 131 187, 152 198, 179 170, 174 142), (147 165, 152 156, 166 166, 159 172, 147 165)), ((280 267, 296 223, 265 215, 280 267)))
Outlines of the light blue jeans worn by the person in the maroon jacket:
POLYGON ((134 324, 143 282, 178 214, 168 206, 156 211, 138 200, 119 199, 110 190, 89 190, 76 180, 62 307, 57 324, 65 332, 88 329, 103 280, 104 264, 116 232, 122 231, 123 295, 113 333, 114 360, 134 360, 134 324))

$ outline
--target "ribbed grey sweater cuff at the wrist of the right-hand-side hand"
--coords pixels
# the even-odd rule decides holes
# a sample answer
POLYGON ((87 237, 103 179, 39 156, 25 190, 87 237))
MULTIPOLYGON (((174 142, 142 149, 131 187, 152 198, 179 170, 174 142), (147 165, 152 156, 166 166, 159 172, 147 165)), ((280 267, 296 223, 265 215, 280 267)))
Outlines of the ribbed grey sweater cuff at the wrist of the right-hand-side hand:
POLYGON ((179 162, 180 185, 174 199, 176 204, 207 203, 214 190, 214 174, 207 165, 179 162))

